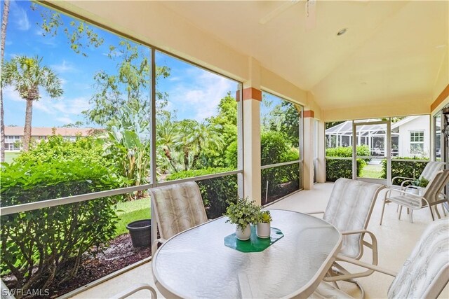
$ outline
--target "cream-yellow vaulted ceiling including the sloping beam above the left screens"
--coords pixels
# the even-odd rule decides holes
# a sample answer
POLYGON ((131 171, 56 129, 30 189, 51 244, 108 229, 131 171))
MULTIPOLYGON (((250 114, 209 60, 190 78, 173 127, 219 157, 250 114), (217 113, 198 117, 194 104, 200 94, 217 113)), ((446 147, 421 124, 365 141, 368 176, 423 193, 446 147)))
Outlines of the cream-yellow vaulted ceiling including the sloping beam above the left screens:
POLYGON ((449 90, 448 0, 316 0, 313 29, 306 0, 52 3, 235 78, 253 57, 326 120, 429 113, 449 90))

